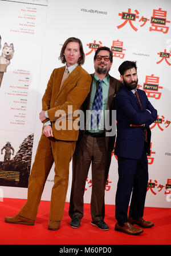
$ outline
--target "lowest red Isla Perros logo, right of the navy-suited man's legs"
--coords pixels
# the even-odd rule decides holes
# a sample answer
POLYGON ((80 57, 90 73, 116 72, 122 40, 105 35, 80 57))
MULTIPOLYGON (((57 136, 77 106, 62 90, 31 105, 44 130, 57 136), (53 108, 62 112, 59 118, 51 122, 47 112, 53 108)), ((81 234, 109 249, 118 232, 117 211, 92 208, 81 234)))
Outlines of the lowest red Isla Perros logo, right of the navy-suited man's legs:
POLYGON ((156 195, 157 192, 160 192, 164 187, 165 187, 165 195, 170 194, 171 193, 171 190, 170 190, 171 179, 168 179, 167 183, 165 185, 158 184, 157 180, 154 180, 154 182, 152 182, 152 179, 150 179, 148 182, 147 191, 150 191, 150 192, 152 192, 153 195, 156 195))

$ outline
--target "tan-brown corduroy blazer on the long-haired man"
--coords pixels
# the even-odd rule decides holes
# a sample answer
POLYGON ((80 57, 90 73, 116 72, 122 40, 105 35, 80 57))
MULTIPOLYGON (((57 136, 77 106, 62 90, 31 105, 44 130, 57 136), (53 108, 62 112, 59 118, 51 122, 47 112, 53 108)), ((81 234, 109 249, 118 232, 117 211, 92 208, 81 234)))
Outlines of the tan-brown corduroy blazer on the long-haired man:
MULTIPOLYGON (((62 66, 52 72, 42 98, 42 110, 48 113, 55 139, 76 141, 79 130, 72 127, 76 119, 76 117, 72 117, 72 113, 78 110, 86 99, 91 86, 91 76, 82 66, 78 65, 60 88, 64 70, 65 66, 62 66), (70 107, 68 108, 68 106, 70 107), (64 124, 66 122, 66 125, 59 129, 58 127, 62 126, 60 125, 61 121, 64 124)), ((44 120, 43 123, 47 120, 44 120)))

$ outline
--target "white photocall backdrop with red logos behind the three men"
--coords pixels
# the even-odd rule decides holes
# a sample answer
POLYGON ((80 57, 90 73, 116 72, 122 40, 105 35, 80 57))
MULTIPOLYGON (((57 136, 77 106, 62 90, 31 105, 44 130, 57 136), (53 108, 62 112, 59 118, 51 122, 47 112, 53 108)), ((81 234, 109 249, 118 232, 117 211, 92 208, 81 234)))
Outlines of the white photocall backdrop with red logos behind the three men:
MULTIPOLYGON (((10 64, 8 61, 4 64, 0 57, 0 198, 27 198, 27 180, 42 132, 39 121, 42 96, 52 70, 63 65, 58 57, 64 41, 78 37, 86 53, 83 68, 89 73, 94 72, 93 56, 101 46, 113 51, 109 73, 117 79, 123 61, 137 61, 139 88, 158 111, 157 120, 150 125, 152 140, 145 206, 170 208, 170 1, 0 0, 0 21, 0 56, 5 43, 7 47, 13 44, 10 64), (7 150, 11 156, 4 162, 7 150)), ((105 187, 106 204, 115 204, 117 180, 117 159, 112 154, 105 187)), ((53 181, 54 166, 42 200, 50 200, 53 181)), ((66 202, 70 201, 71 182, 72 162, 66 202)), ((91 187, 90 167, 84 203, 90 202, 91 187)))

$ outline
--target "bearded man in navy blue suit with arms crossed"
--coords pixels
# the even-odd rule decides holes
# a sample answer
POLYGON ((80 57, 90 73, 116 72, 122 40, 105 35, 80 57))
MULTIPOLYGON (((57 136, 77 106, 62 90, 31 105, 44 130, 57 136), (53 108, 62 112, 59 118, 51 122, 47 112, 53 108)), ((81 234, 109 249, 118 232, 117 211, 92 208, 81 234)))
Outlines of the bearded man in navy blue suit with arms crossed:
POLYGON ((119 180, 116 191, 116 231, 131 235, 143 232, 140 227, 152 227, 143 219, 148 184, 150 153, 149 125, 157 119, 157 111, 150 104, 144 90, 137 89, 136 62, 124 61, 119 66, 123 87, 117 93, 117 138, 115 154, 118 159, 119 180), (132 198, 131 198, 132 194, 132 198), (129 200, 129 216, 127 216, 129 200))

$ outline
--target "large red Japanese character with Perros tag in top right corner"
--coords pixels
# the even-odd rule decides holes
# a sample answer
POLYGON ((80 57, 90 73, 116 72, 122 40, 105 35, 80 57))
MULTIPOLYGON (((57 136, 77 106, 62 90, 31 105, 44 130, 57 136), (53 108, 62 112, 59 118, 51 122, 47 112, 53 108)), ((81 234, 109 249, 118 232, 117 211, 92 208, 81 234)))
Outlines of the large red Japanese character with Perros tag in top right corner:
POLYGON ((166 20, 167 11, 161 10, 153 10, 153 16, 151 17, 150 23, 152 26, 149 28, 149 31, 160 31, 164 34, 168 33, 169 27, 166 26, 166 23, 170 23, 170 21, 166 20))

